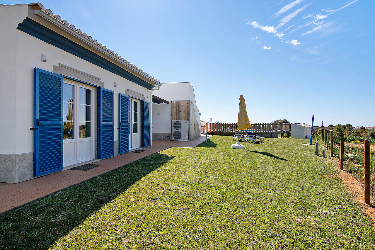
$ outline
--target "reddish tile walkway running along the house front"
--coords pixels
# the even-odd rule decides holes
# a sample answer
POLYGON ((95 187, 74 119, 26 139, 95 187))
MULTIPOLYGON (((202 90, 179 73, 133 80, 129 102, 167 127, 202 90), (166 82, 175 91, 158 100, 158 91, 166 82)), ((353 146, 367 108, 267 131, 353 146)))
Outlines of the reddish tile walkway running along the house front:
POLYGON ((152 147, 142 149, 144 152, 129 152, 104 160, 95 161, 93 164, 101 164, 101 166, 90 170, 79 171, 68 169, 19 183, 0 182, 0 215, 56 193, 57 191, 72 187, 73 185, 77 185, 98 175, 102 175, 110 170, 132 163, 133 161, 139 160, 148 155, 163 151, 164 149, 171 147, 195 148, 204 142, 205 139, 206 136, 201 135, 189 142, 153 140, 152 147))

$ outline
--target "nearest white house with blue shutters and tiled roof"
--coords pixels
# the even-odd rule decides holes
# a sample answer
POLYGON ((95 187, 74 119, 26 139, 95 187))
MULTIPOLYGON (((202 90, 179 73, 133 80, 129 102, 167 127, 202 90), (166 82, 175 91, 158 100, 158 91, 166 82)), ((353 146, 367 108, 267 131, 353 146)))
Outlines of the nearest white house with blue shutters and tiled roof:
POLYGON ((160 83, 40 3, 0 5, 0 182, 151 145, 160 83))

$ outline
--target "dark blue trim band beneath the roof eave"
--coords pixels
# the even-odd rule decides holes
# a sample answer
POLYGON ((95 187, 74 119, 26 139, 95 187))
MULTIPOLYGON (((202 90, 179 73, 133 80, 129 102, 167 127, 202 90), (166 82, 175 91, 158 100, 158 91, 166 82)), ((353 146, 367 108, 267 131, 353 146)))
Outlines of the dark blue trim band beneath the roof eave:
POLYGON ((99 56, 98 54, 82 47, 81 45, 71 41, 70 39, 62 36, 53 30, 48 29, 47 27, 43 26, 42 24, 37 23, 30 18, 26 18, 22 23, 18 24, 18 30, 21 30, 31 36, 34 36, 42 41, 47 42, 57 48, 65 50, 68 53, 71 53, 77 57, 80 57, 87 62, 93 63, 105 70, 108 70, 120 77, 123 77, 133 83, 136 83, 146 89, 152 89, 154 85, 148 83, 145 80, 133 75, 129 71, 121 68, 118 65, 104 59, 103 57, 99 56))

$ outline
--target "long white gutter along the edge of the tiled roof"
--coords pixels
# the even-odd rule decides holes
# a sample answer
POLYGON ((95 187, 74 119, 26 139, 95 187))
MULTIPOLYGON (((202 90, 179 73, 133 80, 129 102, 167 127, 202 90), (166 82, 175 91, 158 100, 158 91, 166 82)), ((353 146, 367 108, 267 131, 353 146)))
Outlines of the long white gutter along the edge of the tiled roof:
MULTIPOLYGON (((95 44, 91 40, 87 39, 85 36, 81 35, 80 33, 76 32, 71 27, 67 26, 63 22, 57 20, 56 18, 52 17, 45 11, 42 11, 41 9, 37 10, 34 9, 34 15, 38 16, 42 20, 48 21, 49 23, 53 24, 55 27, 64 30, 66 33, 69 33, 70 35, 74 36, 81 42, 84 42, 85 44, 89 45, 90 48, 95 50, 96 53, 101 54, 103 57, 110 57, 111 59, 115 60, 116 62, 120 63, 121 66, 124 66, 127 71, 131 72, 132 74, 135 74, 139 76, 140 78, 145 78, 144 80, 147 80, 149 83, 154 83, 156 85, 159 85, 160 83, 155 82, 156 79, 143 74, 138 69, 134 68, 132 65, 129 65, 128 63, 121 60, 119 57, 115 56, 114 54, 110 53, 109 51, 102 48, 100 45, 95 44)), ((160 87, 160 86, 159 86, 160 87)))

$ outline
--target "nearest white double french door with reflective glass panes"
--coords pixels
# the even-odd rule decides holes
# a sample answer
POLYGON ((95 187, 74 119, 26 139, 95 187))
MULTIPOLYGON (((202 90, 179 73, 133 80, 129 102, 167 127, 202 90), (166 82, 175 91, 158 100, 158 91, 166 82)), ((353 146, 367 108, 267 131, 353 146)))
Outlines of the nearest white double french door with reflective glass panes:
POLYGON ((95 96, 95 88, 72 80, 64 79, 64 167, 95 159, 95 96))

